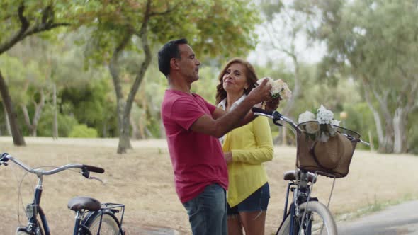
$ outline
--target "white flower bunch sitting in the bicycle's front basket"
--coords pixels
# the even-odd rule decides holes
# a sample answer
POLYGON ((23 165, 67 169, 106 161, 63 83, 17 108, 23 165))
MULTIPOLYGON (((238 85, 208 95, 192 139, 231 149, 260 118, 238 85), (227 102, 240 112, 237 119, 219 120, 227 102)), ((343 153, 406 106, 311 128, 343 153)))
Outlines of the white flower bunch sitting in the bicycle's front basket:
POLYGON ((334 136, 339 125, 339 121, 334 120, 334 113, 331 110, 327 110, 324 105, 317 109, 316 116, 309 111, 300 114, 298 122, 307 137, 320 142, 327 142, 329 137, 334 136))

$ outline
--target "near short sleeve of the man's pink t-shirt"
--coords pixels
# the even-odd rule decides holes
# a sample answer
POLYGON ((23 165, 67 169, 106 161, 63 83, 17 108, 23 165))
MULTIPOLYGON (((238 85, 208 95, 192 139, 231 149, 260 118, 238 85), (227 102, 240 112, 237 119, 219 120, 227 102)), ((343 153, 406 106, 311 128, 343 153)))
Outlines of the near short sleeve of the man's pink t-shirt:
POLYGON ((186 130, 189 130, 199 117, 207 115, 205 110, 189 98, 179 98, 171 108, 171 119, 186 130))

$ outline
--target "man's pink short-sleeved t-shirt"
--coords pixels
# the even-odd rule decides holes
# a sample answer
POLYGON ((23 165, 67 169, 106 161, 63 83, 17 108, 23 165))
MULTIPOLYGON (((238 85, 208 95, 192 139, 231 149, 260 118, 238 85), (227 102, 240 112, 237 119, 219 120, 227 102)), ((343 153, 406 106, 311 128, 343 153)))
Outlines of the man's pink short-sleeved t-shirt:
POLYGON ((193 199, 205 186, 218 183, 227 190, 228 173, 218 138, 189 130, 215 106, 196 94, 166 90, 161 115, 166 130, 176 192, 182 203, 193 199))

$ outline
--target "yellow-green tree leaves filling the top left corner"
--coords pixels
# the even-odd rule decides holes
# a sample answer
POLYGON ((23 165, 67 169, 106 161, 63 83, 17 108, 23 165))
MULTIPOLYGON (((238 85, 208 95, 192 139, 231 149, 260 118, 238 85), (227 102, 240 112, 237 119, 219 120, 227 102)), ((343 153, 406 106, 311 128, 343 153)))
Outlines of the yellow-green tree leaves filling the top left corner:
MULTIPOLYGON (((38 33, 40 37, 56 40, 62 30, 61 26, 78 28, 95 16, 93 9, 100 1, 83 0, 3 0, 0 4, 0 54, 6 50, 6 45, 11 38, 22 28, 22 20, 18 11, 22 10, 22 16, 28 23, 28 29, 24 33, 38 33)), ((30 34, 29 34, 30 35, 30 34)), ((27 36, 27 35, 25 35, 27 36)), ((12 45, 13 46, 13 45, 12 45)))

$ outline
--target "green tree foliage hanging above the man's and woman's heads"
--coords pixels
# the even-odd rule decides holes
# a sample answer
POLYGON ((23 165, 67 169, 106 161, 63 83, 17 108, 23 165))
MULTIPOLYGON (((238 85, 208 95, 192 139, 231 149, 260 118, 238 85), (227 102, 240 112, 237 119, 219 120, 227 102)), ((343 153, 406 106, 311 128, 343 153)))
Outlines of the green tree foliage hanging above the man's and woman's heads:
MULTIPOLYGON (((152 1, 152 16, 144 18, 147 1, 120 1, 101 4, 94 10, 97 18, 87 24, 94 29, 86 55, 89 62, 108 62, 113 50, 129 32, 140 36, 147 24, 151 45, 176 38, 188 38, 198 58, 203 56, 243 56, 255 47, 254 28, 259 13, 248 0, 237 1, 152 1), (135 19, 135 20, 132 20, 135 19)), ((138 38, 131 38, 126 50, 138 50, 138 38)))

